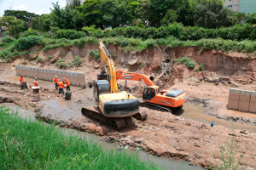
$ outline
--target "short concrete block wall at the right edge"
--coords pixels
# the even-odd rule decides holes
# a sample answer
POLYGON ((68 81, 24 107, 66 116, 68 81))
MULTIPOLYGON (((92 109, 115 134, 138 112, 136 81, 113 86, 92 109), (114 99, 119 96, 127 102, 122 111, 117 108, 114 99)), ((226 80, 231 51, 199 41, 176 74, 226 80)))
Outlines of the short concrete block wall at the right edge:
POLYGON ((228 109, 256 113, 256 92, 230 88, 228 109))

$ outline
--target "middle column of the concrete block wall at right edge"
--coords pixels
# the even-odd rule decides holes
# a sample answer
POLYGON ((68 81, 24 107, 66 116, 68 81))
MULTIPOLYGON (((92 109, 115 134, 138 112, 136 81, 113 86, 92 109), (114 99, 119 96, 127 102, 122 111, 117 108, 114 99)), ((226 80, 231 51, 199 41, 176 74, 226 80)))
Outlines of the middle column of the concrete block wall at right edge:
POLYGON ((251 100, 251 91, 241 90, 240 97, 239 97, 239 111, 249 111, 250 100, 251 100))

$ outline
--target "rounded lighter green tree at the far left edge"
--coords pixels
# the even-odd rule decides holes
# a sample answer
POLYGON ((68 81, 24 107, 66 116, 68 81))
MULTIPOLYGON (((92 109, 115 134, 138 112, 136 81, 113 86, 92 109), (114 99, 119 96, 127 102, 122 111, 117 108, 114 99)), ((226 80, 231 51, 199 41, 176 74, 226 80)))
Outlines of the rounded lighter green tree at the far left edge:
POLYGON ((14 16, 3 16, 0 19, 0 26, 6 26, 11 35, 15 35, 23 28, 23 22, 14 16))

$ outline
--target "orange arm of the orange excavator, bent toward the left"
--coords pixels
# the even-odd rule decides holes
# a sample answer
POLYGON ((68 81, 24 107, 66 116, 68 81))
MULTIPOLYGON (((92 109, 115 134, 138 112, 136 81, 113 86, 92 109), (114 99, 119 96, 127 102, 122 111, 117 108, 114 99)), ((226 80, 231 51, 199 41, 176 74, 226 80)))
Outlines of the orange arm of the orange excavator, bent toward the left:
POLYGON ((116 71, 116 80, 135 80, 143 82, 144 86, 155 86, 147 76, 136 72, 116 71))

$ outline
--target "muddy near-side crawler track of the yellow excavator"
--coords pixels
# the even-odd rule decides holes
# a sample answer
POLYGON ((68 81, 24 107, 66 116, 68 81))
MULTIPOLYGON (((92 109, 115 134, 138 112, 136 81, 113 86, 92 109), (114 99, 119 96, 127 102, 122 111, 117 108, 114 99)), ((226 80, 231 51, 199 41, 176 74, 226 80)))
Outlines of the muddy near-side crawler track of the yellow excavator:
POLYGON ((109 118, 104 115, 102 115, 102 111, 97 106, 87 106, 83 107, 82 115, 91 116, 93 118, 96 118, 97 120, 100 120, 102 122, 105 122, 113 127, 115 127, 116 130, 119 130, 123 127, 125 127, 125 120, 123 118, 109 118))

